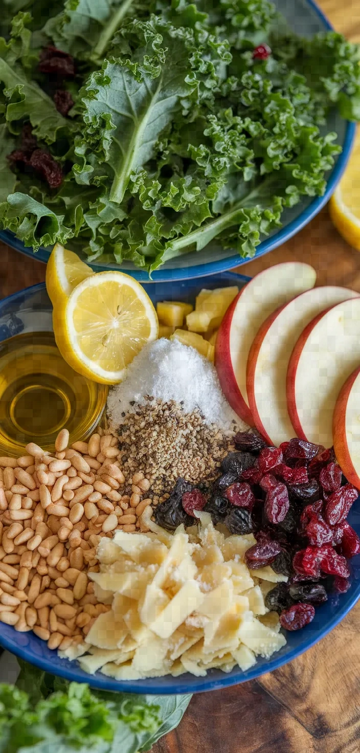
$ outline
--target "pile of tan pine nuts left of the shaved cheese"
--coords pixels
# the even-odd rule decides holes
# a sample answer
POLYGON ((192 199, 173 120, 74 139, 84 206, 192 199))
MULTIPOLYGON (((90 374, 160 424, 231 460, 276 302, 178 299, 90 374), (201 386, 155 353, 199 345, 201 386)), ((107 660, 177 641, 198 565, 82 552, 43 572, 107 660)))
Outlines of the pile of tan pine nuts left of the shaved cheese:
POLYGON ((68 443, 63 429, 53 455, 30 443, 26 456, 0 457, 0 620, 61 650, 111 608, 87 575, 99 572, 100 538, 148 531, 140 516, 151 505, 144 474, 125 480, 117 437, 99 429, 68 443))

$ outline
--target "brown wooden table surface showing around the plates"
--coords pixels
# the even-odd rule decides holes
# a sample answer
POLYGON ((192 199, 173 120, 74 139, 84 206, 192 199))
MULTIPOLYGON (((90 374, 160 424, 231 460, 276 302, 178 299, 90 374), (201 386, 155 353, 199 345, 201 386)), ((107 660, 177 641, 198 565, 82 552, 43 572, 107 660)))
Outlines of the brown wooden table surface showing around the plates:
MULTIPOLYGON (((320 5, 337 30, 360 41, 360 0, 320 5)), ((295 238, 241 272, 253 276, 291 260, 313 264, 318 284, 360 291, 360 253, 340 238, 326 208, 295 238)), ((44 279, 43 264, 0 244, 0 297, 44 279)), ((359 630, 360 603, 322 642, 276 672, 197 694, 154 753, 358 753, 359 630)))

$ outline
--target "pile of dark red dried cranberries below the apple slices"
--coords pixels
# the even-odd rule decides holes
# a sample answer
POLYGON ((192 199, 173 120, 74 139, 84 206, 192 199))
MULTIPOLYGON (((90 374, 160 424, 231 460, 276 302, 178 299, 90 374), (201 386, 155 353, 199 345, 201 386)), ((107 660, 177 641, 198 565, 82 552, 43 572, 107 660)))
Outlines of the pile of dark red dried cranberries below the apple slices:
POLYGON ((155 519, 175 530, 194 524, 194 511, 203 510, 232 534, 253 533, 256 544, 247 550, 246 564, 288 575, 265 603, 279 612, 285 630, 299 630, 329 590, 349 589, 346 558, 360 553, 360 538, 346 517, 358 491, 344 479, 332 448, 300 439, 268 447, 250 431, 236 434, 234 443, 236 451, 221 462, 222 475, 212 486, 178 479, 169 499, 155 508, 155 519))

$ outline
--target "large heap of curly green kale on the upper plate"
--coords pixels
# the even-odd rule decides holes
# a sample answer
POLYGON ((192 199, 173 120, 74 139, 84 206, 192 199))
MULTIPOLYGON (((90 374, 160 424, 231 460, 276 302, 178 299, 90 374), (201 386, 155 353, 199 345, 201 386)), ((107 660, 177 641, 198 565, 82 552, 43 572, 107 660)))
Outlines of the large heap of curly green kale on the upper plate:
POLYGON ((56 0, 42 29, 44 0, 5 7, 0 227, 34 251, 68 242, 149 273, 214 242, 250 258, 286 208, 324 194, 340 152, 320 130, 330 108, 360 119, 359 47, 295 35, 267 0, 56 0), (41 75, 46 44, 75 75, 41 75), (27 156, 7 160, 27 122, 63 166, 57 189, 27 156))

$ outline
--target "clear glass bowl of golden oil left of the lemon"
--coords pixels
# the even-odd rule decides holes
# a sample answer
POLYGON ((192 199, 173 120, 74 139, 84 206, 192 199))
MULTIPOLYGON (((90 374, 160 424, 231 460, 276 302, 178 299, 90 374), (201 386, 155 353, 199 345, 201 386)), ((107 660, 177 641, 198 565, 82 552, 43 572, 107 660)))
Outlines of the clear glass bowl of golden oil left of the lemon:
POLYGON ((53 336, 44 284, 0 301, 0 456, 20 456, 28 442, 53 450, 57 434, 86 439, 99 424, 108 387, 66 364, 53 336))

